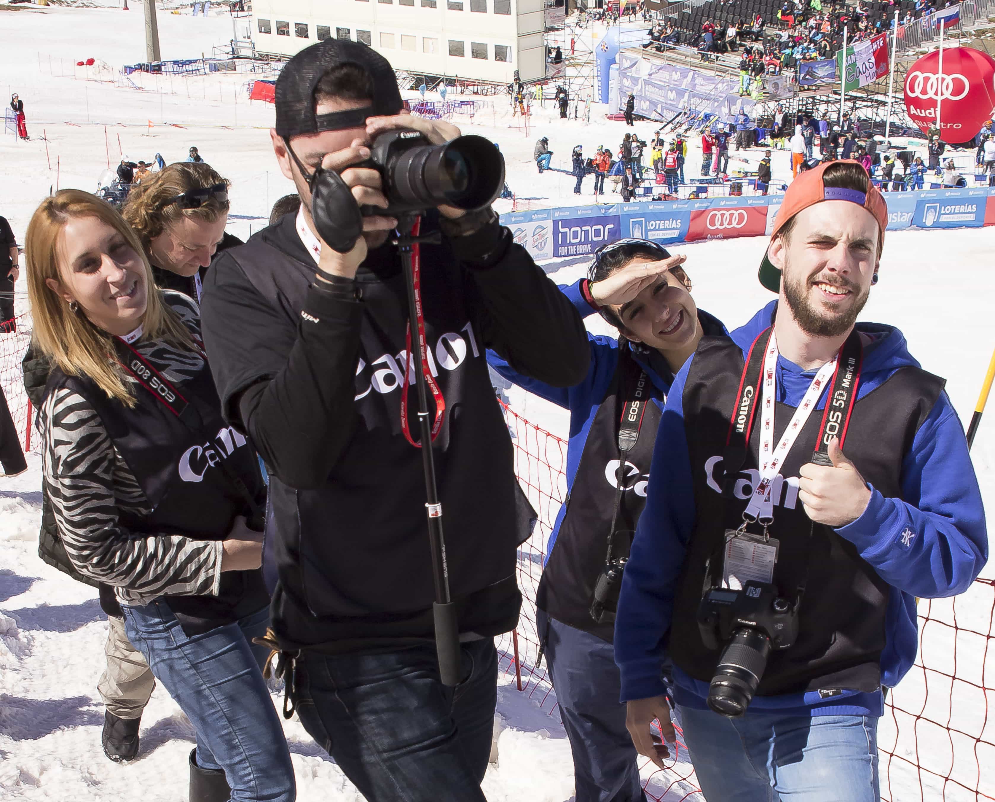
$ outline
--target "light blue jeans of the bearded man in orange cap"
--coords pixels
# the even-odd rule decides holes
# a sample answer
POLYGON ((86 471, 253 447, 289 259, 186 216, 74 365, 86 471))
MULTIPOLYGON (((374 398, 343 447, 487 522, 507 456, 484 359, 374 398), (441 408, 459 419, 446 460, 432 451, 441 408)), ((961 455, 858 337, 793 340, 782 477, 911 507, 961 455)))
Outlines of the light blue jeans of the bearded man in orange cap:
POLYGON ((679 707, 706 799, 878 802, 878 718, 747 712, 726 718, 679 707))

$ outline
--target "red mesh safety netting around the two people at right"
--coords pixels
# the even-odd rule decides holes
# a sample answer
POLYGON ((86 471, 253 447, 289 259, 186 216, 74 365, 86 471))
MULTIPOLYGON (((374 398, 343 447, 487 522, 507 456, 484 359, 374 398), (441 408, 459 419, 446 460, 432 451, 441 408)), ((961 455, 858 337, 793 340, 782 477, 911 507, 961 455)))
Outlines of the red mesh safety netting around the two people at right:
MULTIPOLYGON (((516 632, 498 641, 500 667, 523 694, 556 709, 545 664, 536 668, 535 591, 546 543, 566 498, 566 441, 509 407, 515 473, 538 512, 532 537, 518 550, 523 603, 516 632)), ((953 599, 919 603, 915 665, 888 695, 878 732, 885 802, 995 800, 995 580, 981 578, 953 599)), ((666 771, 647 782, 656 800, 695 799, 697 780, 683 743, 666 771)))

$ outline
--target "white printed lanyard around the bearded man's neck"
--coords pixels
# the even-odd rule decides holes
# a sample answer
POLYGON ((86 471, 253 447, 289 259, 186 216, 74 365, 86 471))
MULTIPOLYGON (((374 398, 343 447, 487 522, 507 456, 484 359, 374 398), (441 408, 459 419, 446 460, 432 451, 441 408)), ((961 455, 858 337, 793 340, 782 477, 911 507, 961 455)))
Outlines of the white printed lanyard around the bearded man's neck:
POLYGON ((795 444, 798 433, 805 427, 809 415, 819 402, 819 396, 836 372, 836 362, 839 354, 822 367, 815 374, 812 383, 802 398, 802 403, 795 410, 794 417, 784 430, 784 436, 780 442, 773 446, 774 438, 774 407, 776 404, 776 381, 774 379, 777 369, 777 335, 771 331, 770 341, 767 343, 767 352, 763 358, 763 408, 760 426, 760 449, 758 462, 760 464, 760 477, 756 484, 756 489, 750 497, 746 509, 743 510, 743 517, 749 520, 758 520, 761 523, 770 523, 774 519, 774 504, 771 499, 771 488, 774 477, 776 477, 784 465, 784 460, 795 444))

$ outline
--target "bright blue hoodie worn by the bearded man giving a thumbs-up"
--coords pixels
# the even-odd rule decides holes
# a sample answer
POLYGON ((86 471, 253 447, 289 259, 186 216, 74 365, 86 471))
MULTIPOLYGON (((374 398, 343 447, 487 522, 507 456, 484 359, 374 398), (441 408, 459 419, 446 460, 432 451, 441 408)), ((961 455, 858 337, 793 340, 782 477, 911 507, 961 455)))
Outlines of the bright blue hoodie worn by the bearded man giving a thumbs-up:
MULTIPOLYGON (((777 301, 765 306, 732 339, 743 351, 771 323, 777 301)), ((858 398, 880 387, 899 367, 918 362, 898 329, 858 323, 874 340, 864 349, 858 398)), ((667 657, 674 594, 686 547, 695 526, 691 458, 684 424, 685 363, 671 388, 650 470, 646 508, 639 520, 626 566, 615 625, 615 662, 622 673, 622 701, 665 692, 661 668, 667 657)), ((815 376, 778 358, 777 400, 797 406, 815 376)), ((825 396, 817 409, 825 407, 825 396)), ((916 432, 901 466, 902 499, 886 499, 871 487, 871 501, 857 520, 836 532, 850 540, 896 592, 889 598, 887 643, 881 656, 882 683, 892 688, 915 660, 915 599, 963 593, 988 559, 981 493, 960 420, 946 393, 916 432), (906 527, 918 533, 910 548, 900 544, 906 527)), ((674 668, 678 704, 704 708, 707 683, 674 668)), ((751 710, 785 714, 881 715, 881 693, 844 692, 822 700, 818 692, 756 697, 751 710)))

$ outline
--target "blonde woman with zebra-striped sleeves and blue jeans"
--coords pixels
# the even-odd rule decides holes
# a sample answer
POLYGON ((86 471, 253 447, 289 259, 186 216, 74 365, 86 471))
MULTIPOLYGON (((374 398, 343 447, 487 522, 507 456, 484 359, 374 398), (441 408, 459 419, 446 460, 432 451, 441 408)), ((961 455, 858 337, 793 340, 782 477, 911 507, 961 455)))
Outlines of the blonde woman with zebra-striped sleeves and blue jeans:
POLYGON ((295 798, 259 670, 269 598, 256 456, 219 414, 194 301, 159 291, 108 204, 63 190, 25 241, 36 344, 54 369, 40 411, 44 482, 83 575, 114 587, 128 639, 193 723, 190 796, 295 798))

